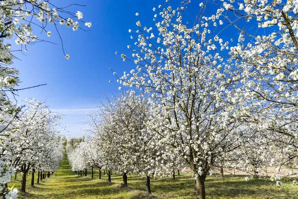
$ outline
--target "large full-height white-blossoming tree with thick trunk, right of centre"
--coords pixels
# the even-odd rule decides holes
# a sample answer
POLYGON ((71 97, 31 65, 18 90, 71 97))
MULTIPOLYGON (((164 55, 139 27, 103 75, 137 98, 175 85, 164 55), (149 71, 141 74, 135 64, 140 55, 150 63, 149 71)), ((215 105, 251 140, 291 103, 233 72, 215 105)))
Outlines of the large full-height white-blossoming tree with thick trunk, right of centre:
POLYGON ((149 116, 148 128, 184 158, 196 178, 197 198, 205 199, 211 166, 240 146, 244 131, 237 119, 246 114, 246 109, 239 111, 246 102, 238 98, 243 93, 241 68, 221 55, 228 53, 229 44, 217 35, 221 10, 207 17, 202 6, 188 27, 183 21, 188 3, 176 9, 158 6, 155 28, 137 21, 137 29, 129 30, 137 38, 135 46, 128 46, 132 56, 121 54, 137 66, 118 81, 149 95, 155 114, 149 116))

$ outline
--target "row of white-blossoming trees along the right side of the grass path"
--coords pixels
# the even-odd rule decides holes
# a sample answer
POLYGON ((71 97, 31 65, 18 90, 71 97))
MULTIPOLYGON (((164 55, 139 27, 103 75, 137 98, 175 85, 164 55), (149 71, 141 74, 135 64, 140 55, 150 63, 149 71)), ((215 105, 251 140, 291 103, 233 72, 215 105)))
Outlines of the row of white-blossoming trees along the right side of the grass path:
POLYGON ((189 4, 166 0, 153 8, 154 28, 137 21, 129 30, 136 41, 121 58, 136 68, 113 73, 142 93, 129 91, 90 115, 88 161, 145 175, 148 193, 149 174, 186 165, 199 199, 213 166, 296 174, 298 3, 204 1, 195 19, 185 14, 189 4))

